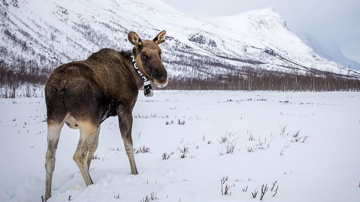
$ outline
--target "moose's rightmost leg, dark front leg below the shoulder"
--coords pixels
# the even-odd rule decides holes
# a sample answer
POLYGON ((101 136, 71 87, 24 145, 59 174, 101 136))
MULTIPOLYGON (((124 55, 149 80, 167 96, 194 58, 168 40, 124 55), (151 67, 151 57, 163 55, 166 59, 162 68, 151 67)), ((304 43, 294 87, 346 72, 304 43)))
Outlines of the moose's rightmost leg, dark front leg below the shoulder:
POLYGON ((124 141, 125 151, 127 157, 129 157, 131 174, 137 175, 138 169, 136 169, 134 146, 132 145, 132 113, 131 110, 118 110, 119 128, 121 132, 122 140, 124 141))

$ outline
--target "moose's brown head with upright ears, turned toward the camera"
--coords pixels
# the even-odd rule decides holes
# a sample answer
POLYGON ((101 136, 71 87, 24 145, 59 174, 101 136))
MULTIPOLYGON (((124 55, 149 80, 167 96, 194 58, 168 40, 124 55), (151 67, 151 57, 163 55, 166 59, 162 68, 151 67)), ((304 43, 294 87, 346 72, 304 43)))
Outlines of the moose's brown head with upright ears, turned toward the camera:
POLYGON ((135 32, 129 32, 127 38, 134 45, 136 65, 149 80, 157 87, 167 85, 167 72, 161 61, 161 49, 159 44, 164 42, 166 31, 160 32, 153 40, 142 41, 135 32))

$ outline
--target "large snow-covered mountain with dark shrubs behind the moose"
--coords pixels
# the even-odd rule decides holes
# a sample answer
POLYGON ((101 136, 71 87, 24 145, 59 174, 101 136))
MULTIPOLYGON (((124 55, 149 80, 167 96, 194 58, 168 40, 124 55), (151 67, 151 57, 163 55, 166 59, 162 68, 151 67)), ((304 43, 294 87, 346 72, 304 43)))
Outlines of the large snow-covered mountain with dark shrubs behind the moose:
POLYGON ((315 54, 273 7, 202 20, 161 0, 2 0, 0 6, 8 64, 20 58, 51 69, 104 47, 130 50, 129 31, 152 39, 165 29, 170 77, 242 74, 244 67, 320 74, 343 68, 315 54))

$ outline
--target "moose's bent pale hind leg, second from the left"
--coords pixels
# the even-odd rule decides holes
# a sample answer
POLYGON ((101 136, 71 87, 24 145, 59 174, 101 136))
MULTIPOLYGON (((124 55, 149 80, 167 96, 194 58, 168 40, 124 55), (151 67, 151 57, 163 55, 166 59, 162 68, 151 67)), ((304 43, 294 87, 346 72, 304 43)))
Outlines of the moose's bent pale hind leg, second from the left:
POLYGON ((79 123, 79 127, 80 127, 80 139, 79 139, 79 143, 77 144, 77 148, 73 156, 73 159, 76 162, 77 167, 79 167, 80 173, 84 178, 87 187, 91 184, 94 184, 89 174, 89 168, 87 166, 86 159, 89 148, 94 141, 97 124, 83 122, 83 123, 79 123))

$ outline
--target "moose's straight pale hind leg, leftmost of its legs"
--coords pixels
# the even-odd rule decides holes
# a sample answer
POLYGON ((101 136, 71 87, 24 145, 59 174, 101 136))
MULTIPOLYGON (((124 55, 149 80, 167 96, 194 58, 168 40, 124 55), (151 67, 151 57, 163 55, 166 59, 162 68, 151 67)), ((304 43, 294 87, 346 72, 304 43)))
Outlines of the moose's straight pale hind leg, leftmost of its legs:
POLYGON ((59 137, 64 121, 61 123, 52 123, 48 120, 48 151, 45 155, 46 183, 45 183, 45 201, 51 197, 51 182, 55 169, 55 153, 58 148, 59 137))

